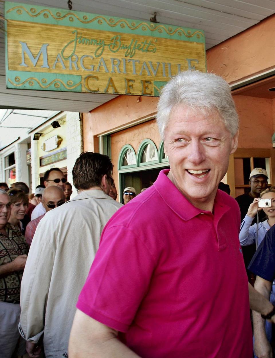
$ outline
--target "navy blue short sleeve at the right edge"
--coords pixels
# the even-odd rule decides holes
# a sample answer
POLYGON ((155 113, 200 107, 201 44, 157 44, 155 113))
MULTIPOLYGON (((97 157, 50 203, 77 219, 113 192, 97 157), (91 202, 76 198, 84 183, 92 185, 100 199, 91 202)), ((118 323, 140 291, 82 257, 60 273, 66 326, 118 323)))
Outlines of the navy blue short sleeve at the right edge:
POLYGON ((271 228, 255 252, 248 270, 272 282, 275 277, 275 227, 271 228))

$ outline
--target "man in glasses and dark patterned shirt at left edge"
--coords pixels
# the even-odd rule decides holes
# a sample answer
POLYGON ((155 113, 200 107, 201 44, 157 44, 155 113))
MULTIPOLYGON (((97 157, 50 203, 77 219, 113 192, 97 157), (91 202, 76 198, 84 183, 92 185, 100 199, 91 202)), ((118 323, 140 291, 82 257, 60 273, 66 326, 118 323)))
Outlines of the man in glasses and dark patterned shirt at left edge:
POLYGON ((20 338, 20 283, 28 246, 18 228, 8 223, 9 195, 0 189, 0 350, 1 358, 23 355, 25 341, 20 338), (17 347, 17 352, 15 349, 17 347), (17 355, 16 354, 16 355, 17 355))

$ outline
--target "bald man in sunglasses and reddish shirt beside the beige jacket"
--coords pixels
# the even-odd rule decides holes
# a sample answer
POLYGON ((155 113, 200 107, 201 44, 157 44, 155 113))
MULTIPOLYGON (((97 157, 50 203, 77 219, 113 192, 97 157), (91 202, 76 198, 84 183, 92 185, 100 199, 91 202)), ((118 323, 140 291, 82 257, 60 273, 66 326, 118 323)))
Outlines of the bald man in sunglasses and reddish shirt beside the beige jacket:
POLYGON ((40 222, 40 220, 44 217, 44 215, 48 211, 64 204, 65 200, 66 200, 65 194, 61 187, 52 185, 50 187, 47 187, 44 190, 44 192, 42 194, 41 203, 42 203, 43 208, 45 209, 46 212, 44 214, 42 214, 41 216, 39 216, 38 218, 36 218, 28 223, 26 232, 25 232, 25 239, 29 246, 32 243, 32 240, 33 240, 33 237, 35 234, 35 230, 36 230, 37 225, 40 222))

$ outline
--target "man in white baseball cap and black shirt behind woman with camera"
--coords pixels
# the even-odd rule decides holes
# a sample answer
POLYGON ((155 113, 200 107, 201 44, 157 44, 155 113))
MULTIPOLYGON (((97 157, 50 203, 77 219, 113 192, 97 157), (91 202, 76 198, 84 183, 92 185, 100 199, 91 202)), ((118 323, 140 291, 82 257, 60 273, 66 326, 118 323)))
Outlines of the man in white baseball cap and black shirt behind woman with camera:
MULTIPOLYGON (((239 204, 240 211, 241 211, 241 222, 245 218, 249 205, 253 202, 254 198, 259 198, 260 193, 262 190, 265 190, 267 188, 267 179, 268 174, 265 169, 262 168, 254 168, 249 176, 249 182, 250 185, 250 192, 245 193, 242 195, 239 195, 236 200, 239 204)), ((252 221, 251 225, 255 224, 256 218, 252 221)), ((259 222, 262 222, 265 218, 264 211, 259 211, 259 222)), ((243 258, 245 260, 245 267, 247 269, 247 266, 249 265, 254 253, 256 251, 256 245, 248 245, 248 246, 242 246, 242 252, 243 252, 243 258)), ((250 277, 250 274, 247 271, 248 277, 250 277)))

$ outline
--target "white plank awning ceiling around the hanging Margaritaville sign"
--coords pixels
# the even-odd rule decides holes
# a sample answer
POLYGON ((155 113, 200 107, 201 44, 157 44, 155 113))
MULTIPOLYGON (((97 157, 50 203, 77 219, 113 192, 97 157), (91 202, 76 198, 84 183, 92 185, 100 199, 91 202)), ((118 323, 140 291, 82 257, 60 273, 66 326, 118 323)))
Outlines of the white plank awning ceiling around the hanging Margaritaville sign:
MULTIPOLYGON (((67 9, 66 0, 21 0, 23 3, 67 9)), ((72 0, 73 10, 150 20, 202 29, 206 48, 246 30, 275 13, 273 0, 72 0)), ((4 1, 0 0, 3 13, 4 1)), ((6 89, 4 33, 0 32, 0 108, 32 108, 89 112, 115 95, 6 89)))

